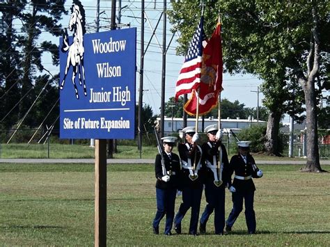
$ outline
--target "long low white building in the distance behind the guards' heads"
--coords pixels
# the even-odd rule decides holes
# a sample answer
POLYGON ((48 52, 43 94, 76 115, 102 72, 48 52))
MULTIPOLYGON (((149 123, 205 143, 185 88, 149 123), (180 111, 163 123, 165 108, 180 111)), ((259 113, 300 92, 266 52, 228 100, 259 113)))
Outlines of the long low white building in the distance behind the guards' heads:
MULTIPOLYGON (((159 124, 160 118, 157 118, 159 124)), ((256 119, 221 119, 221 129, 232 129, 234 132, 239 132, 240 129, 251 127, 251 125, 265 125, 265 121, 257 121, 256 119)), ((205 118, 204 119, 204 129, 209 125, 217 125, 217 118, 205 118)), ((196 126, 196 118, 187 118, 187 127, 196 126)), ((182 118, 164 118, 164 132, 178 132, 183 129, 183 119, 182 118)), ((202 131, 202 117, 198 118, 198 132, 202 131)))

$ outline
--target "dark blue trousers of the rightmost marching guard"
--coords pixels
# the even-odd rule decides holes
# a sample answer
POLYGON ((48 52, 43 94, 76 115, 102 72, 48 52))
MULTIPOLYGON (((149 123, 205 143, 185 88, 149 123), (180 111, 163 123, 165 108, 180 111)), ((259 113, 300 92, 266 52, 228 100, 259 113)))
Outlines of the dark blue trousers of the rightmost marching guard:
POLYGON ((256 214, 253 210, 254 191, 234 192, 233 209, 231 210, 226 224, 232 227, 243 209, 243 199, 245 204, 245 220, 248 232, 256 232, 256 214))

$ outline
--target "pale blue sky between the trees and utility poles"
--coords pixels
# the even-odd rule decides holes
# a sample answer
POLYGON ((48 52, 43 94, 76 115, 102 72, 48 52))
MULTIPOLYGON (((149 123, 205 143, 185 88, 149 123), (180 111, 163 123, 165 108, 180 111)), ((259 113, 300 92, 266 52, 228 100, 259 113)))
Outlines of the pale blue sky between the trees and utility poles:
MULTIPOLYGON (((95 19, 96 19, 96 1, 81 1, 84 5, 86 12, 86 29, 87 33, 95 32, 95 19)), ((72 1, 66 1, 65 9, 70 10, 72 1)), ((162 14, 163 1, 157 0, 145 0, 146 8, 146 21, 145 21, 145 49, 150 41, 152 32, 157 25, 157 21, 162 14)), ((121 23, 130 24, 131 27, 136 27, 136 66, 139 71, 140 68, 140 40, 141 40, 141 1, 122 0, 121 3, 121 23)), ((118 8, 118 0, 117 0, 118 8)), ((171 8, 171 4, 167 3, 167 8, 171 8)), ((111 0, 100 1, 100 31, 109 31, 111 24, 111 0)), ((118 15, 118 14, 117 14, 118 15)), ((68 19, 70 17, 70 11, 67 17, 63 17, 61 24, 64 27, 68 27, 68 19)), ((144 77, 143 77, 143 105, 148 104, 151 106, 154 114, 160 113, 161 93, 162 93, 162 33, 163 33, 163 18, 159 22, 156 30, 156 35, 152 38, 146 55, 144 58, 144 77), (160 45, 159 45, 160 44, 160 45)), ((205 20, 207 22, 207 20, 205 20)), ((198 20, 196 20, 196 26, 198 20)), ((166 43, 171 40, 172 33, 170 31, 171 24, 166 24, 166 43)), ((127 28, 127 27, 123 27, 127 28)), ((69 33, 69 35, 71 35, 69 33)), ((175 34, 171 45, 168 48, 166 54, 166 86, 165 86, 165 101, 167 102, 170 97, 175 95, 175 82, 178 79, 180 68, 184 62, 183 56, 175 55, 175 48, 178 44, 175 39, 179 34, 175 34)), ((45 35, 47 39, 47 35, 45 35)), ((54 67, 50 61, 50 58, 45 56, 42 58, 45 67, 52 73, 59 72, 59 67, 54 67)), ((239 103, 244 104, 247 107, 256 107, 257 93, 251 91, 257 91, 257 87, 260 86, 262 81, 252 74, 237 74, 230 76, 229 74, 223 74, 223 88, 221 98, 226 98, 230 102, 238 100, 239 103)), ((262 106, 263 95, 259 95, 259 106, 262 106)), ((139 100, 139 73, 136 73, 136 100, 139 100)), ((137 104, 137 102, 136 102, 137 104)))

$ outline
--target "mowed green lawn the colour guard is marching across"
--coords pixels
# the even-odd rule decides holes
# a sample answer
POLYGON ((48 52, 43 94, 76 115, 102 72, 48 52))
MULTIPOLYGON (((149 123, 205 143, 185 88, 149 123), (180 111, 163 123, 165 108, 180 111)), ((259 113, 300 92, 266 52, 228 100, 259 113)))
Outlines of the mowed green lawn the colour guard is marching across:
MULTIPOLYGON (((233 232, 181 235, 152 233, 155 175, 152 165, 109 165, 108 246, 329 246, 330 173, 301 173, 301 166, 259 165, 254 180, 257 234, 246 234, 244 212, 233 232)), ((322 166, 330 170, 330 166, 322 166)), ((177 198, 176 209, 181 197, 177 198)), ((226 217, 231 209, 226 190, 226 217)), ((205 206, 203 196, 202 207, 205 206)), ((93 246, 93 164, 0 164, 1 246, 93 246)), ((164 231, 164 220, 160 232, 164 231)), ((174 233, 174 230, 173 230, 174 233)))

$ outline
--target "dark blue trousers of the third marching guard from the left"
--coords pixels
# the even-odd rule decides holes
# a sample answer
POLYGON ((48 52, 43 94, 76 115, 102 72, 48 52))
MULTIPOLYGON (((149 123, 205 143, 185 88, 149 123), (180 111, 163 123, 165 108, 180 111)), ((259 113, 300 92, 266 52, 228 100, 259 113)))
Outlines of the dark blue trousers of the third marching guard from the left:
POLYGON ((211 183, 205 184, 205 198, 207 205, 201 216, 201 223, 207 223, 210 214, 214 211, 214 229, 216 234, 223 232, 225 226, 225 188, 211 183))

